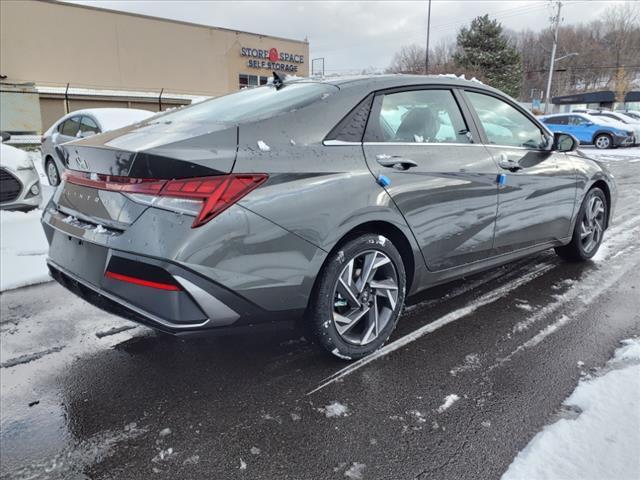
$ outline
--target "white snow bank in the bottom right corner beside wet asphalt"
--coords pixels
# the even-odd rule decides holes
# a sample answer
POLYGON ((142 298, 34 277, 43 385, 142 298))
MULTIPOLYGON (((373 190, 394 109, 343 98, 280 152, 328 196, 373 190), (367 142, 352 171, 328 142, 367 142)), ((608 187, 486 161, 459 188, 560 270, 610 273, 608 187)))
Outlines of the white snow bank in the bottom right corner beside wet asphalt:
POLYGON ((640 478, 640 338, 622 344, 563 402, 578 415, 546 426, 502 480, 640 478))

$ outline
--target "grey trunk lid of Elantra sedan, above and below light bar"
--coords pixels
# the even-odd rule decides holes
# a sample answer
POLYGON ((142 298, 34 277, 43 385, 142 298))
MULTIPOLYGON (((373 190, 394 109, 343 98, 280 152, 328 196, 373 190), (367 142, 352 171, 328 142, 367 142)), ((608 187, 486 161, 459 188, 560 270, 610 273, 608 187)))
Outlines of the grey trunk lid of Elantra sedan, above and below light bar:
MULTIPOLYGON (((161 118, 161 117, 160 117, 161 118)), ((143 182, 231 173, 236 158, 236 126, 155 122, 70 142, 57 147, 64 165, 89 178, 118 177, 143 182), (123 178, 124 177, 124 178, 123 178)), ((53 197, 70 224, 126 230, 148 208, 121 191, 66 181, 53 197)))

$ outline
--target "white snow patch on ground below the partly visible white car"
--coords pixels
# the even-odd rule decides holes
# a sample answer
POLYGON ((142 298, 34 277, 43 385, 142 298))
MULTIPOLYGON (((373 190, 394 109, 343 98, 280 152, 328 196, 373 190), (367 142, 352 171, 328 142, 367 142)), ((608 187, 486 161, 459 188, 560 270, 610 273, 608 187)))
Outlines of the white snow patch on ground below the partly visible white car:
POLYGON ((41 214, 0 212, 0 291, 50 280, 41 214))

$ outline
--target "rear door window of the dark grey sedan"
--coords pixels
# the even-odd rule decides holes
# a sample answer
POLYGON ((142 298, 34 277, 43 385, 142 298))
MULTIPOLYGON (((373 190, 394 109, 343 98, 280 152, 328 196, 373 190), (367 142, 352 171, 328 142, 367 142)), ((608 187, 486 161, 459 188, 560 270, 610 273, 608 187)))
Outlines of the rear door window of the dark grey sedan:
POLYGON ((410 90, 382 97, 378 118, 365 140, 411 143, 471 143, 450 90, 410 90))

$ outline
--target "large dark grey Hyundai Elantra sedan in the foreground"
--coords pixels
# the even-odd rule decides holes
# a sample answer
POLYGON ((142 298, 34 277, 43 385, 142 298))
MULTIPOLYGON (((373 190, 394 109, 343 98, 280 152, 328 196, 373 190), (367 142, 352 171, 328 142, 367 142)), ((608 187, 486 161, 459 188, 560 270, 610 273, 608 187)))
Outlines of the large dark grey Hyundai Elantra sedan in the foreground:
POLYGON ((477 82, 276 81, 62 145, 48 265, 165 332, 300 321, 360 358, 407 296, 548 248, 591 258, 616 186, 577 146, 477 82))

